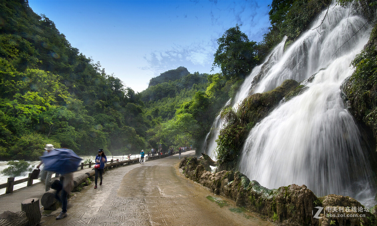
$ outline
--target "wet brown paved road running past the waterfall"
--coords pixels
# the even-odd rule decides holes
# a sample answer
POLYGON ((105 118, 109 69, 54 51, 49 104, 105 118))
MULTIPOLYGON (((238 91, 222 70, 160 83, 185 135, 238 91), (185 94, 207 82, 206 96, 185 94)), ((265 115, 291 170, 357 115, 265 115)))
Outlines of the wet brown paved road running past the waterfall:
POLYGON ((97 189, 93 183, 72 193, 66 218, 55 220, 58 209, 43 216, 42 225, 272 225, 185 178, 179 161, 173 155, 108 170, 97 189), (220 207, 207 196, 228 206, 220 207))

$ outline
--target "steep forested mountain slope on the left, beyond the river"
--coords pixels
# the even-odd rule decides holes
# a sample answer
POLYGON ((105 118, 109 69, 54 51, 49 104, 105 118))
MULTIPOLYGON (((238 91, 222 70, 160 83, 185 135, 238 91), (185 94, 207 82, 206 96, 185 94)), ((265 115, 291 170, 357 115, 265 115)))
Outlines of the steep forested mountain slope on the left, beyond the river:
POLYGON ((0 21, 1 158, 37 159, 45 143, 78 154, 146 146, 150 122, 139 95, 72 47, 54 22, 23 0, 1 1, 0 21))

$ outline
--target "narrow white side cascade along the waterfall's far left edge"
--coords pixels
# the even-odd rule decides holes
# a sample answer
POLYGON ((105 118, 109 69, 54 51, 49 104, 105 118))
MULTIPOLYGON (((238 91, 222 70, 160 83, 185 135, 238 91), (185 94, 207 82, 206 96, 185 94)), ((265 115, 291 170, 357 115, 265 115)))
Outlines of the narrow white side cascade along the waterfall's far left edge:
MULTIPOLYGON (((277 45, 273 51, 266 57, 265 61, 256 67, 253 68, 251 73, 245 78, 245 81, 242 83, 241 87, 239 88, 239 91, 237 92, 234 100, 233 100, 233 108, 238 109, 239 105, 242 103, 242 101, 250 95, 250 89, 253 86, 253 80, 256 75, 258 75, 261 72, 262 67, 264 68, 270 68, 273 66, 276 62, 279 61, 279 59, 283 56, 284 53, 284 45, 287 38, 285 37, 282 42, 280 42, 279 45, 277 45)), ((231 99, 227 101, 227 103, 224 105, 224 107, 228 106, 231 102, 231 99)), ((216 116, 215 121, 212 124, 211 131, 207 133, 207 136, 204 140, 204 149, 205 153, 209 155, 213 160, 216 160, 216 148, 217 143, 216 140, 219 137, 219 131, 223 128, 224 122, 221 120, 221 112, 216 116), (211 135, 210 140, 207 142, 207 137, 211 135)))

